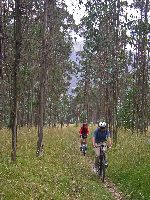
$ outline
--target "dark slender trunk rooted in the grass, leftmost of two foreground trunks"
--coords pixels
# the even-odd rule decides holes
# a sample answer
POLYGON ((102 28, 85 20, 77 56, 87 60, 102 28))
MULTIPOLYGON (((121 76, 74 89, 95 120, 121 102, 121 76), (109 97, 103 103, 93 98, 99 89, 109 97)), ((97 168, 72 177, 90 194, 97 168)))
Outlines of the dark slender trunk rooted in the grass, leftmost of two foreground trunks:
POLYGON ((12 108, 11 108, 11 130, 12 130, 12 161, 16 161, 17 146, 17 97, 18 97, 18 68, 20 63, 21 51, 21 10, 20 0, 15 0, 15 16, 14 16, 14 38, 15 38, 15 55, 12 69, 12 108))

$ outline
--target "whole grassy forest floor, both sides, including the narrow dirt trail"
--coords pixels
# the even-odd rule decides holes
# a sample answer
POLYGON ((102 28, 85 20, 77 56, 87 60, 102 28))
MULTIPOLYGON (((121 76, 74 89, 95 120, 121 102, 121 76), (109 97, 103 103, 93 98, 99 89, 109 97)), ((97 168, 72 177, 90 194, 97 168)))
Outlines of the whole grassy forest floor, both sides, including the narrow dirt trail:
POLYGON ((17 162, 10 160, 11 132, 0 130, 0 200, 149 200, 149 136, 118 136, 108 152, 107 180, 91 170, 94 152, 91 135, 88 153, 79 152, 76 127, 44 129, 44 156, 36 157, 37 130, 18 132, 17 162))

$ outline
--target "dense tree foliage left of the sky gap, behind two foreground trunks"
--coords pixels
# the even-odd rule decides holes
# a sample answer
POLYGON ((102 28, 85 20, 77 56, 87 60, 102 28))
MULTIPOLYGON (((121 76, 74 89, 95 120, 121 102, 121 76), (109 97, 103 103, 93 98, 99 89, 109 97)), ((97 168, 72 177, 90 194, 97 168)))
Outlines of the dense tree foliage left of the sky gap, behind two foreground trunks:
MULTIPOLYGON (((5 2, 5 1, 4 1, 5 2)), ((14 54, 14 2, 3 3, 5 9, 2 13, 4 28, 3 48, 5 49, 4 81, 5 94, 2 96, 2 122, 7 126, 10 115, 10 94, 11 94, 11 68, 13 66, 14 54), (12 4, 12 5, 11 5, 12 4), (7 10, 7 12, 5 12, 7 10), (6 48, 4 48, 6 47, 6 48)), ((43 52, 46 51, 46 80, 45 87, 45 122, 49 121, 52 114, 55 122, 59 121, 60 96, 67 94, 75 65, 70 60, 73 48, 71 32, 76 28, 73 16, 67 11, 64 1, 49 1, 46 30, 43 34, 44 1, 24 1, 22 8, 22 41, 21 57, 18 69, 18 124, 33 123, 38 113, 39 100, 39 74, 43 69, 43 52), (54 3, 54 4, 53 4, 54 3), (53 5, 52 5, 53 4, 53 5), (44 38, 45 37, 45 38, 44 38), (43 50, 43 38, 46 41, 46 48, 43 50), (49 107, 51 111, 49 112, 49 107), (55 113, 55 116, 54 114, 55 113), (28 122, 27 122, 28 121, 28 122), (30 122, 29 122, 30 121, 30 122)))

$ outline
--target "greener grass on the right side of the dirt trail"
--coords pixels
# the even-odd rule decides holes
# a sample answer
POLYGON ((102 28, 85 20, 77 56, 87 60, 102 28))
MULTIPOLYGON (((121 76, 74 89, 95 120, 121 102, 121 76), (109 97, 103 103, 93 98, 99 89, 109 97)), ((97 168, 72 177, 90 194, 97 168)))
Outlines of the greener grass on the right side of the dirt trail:
POLYGON ((109 151, 107 175, 128 200, 150 200, 150 144, 145 136, 119 132, 118 144, 109 151))

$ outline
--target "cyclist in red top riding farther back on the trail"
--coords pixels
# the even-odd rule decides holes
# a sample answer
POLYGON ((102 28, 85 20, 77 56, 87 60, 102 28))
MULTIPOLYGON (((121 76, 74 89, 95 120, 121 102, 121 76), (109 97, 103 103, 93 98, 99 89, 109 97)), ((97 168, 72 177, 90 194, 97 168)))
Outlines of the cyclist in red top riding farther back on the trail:
POLYGON ((79 133, 80 133, 80 138, 81 138, 81 140, 80 140, 80 144, 81 144, 80 151, 81 151, 82 150, 82 142, 83 142, 83 140, 85 141, 86 148, 87 148, 87 136, 89 134, 89 129, 88 129, 87 123, 83 123, 82 124, 82 127, 80 128, 79 133))

